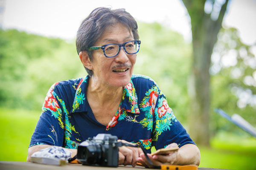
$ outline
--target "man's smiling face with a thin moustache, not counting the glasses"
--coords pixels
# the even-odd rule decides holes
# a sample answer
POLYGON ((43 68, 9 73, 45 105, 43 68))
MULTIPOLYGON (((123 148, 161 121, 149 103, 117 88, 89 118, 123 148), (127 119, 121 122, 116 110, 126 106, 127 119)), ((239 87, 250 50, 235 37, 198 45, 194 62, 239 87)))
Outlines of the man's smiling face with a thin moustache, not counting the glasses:
MULTIPOLYGON (((111 43, 122 44, 134 40, 130 32, 121 23, 106 28, 105 32, 96 41, 95 46, 111 43)), ((93 51, 93 79, 101 84, 123 87, 130 82, 137 54, 127 54, 121 48, 119 54, 112 58, 105 57, 102 50, 93 51)))

